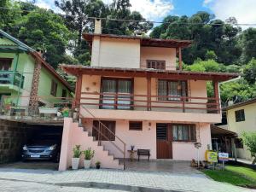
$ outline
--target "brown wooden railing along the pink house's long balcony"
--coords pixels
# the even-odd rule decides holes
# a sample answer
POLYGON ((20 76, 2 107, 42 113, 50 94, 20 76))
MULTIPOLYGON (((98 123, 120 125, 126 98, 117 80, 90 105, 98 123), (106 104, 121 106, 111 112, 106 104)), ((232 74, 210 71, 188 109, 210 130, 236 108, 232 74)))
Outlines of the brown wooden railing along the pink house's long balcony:
POLYGON ((122 93, 82 92, 80 105, 86 108, 219 113, 219 100, 197 96, 148 96, 122 93))

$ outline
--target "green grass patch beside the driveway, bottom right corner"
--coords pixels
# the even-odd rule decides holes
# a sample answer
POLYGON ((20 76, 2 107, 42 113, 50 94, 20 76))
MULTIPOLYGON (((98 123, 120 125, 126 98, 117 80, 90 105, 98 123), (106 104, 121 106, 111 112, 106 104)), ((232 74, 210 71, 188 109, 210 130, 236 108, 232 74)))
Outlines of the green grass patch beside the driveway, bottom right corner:
POLYGON ((230 183, 256 189, 256 172, 243 166, 225 166, 225 170, 203 170, 207 176, 218 182, 230 183))

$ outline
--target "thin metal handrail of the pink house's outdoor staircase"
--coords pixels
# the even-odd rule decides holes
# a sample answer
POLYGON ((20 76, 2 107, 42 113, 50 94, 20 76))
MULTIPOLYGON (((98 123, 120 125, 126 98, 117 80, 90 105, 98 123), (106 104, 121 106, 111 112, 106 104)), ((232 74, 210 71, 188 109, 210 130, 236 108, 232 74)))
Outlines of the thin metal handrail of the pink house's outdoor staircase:
MULTIPOLYGON (((85 108, 83 105, 80 105, 80 107, 82 107, 87 113, 90 113, 90 111, 89 111, 87 108, 85 108)), ((83 116, 83 114, 81 114, 81 113, 79 113, 79 114, 80 114, 80 116, 83 116)), ((97 133, 98 133, 98 137, 97 137, 98 143, 99 143, 100 145, 102 144, 102 137, 104 137, 108 142, 112 143, 113 146, 114 146, 115 148, 117 148, 121 154, 123 154, 124 170, 125 170, 125 150, 126 150, 125 148, 126 148, 126 143, 125 143, 121 138, 119 138, 117 135, 115 135, 115 134, 113 133, 113 131, 111 131, 111 130, 108 128, 108 126, 104 125, 100 119, 97 119, 96 116, 95 116, 93 113, 90 113, 90 115, 91 115, 94 119, 96 119, 96 121, 99 123, 99 128, 96 128, 96 126, 92 124, 92 130, 95 130, 95 131, 97 131, 97 133), (102 126, 103 126, 113 137, 117 138, 117 139, 119 140, 119 142, 123 144, 123 148, 124 148, 124 149, 120 148, 116 143, 113 143, 113 141, 111 140, 111 137, 107 137, 105 134, 102 133, 102 126)), ((83 117, 84 117, 84 116, 83 116, 83 117)))

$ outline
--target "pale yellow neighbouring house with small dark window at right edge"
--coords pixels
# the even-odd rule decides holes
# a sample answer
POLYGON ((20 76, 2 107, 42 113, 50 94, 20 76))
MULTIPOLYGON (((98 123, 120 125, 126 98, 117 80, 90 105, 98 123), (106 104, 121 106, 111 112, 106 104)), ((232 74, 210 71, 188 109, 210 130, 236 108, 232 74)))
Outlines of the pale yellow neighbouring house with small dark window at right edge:
POLYGON ((250 152, 241 143, 241 135, 243 132, 256 132, 256 98, 230 105, 223 110, 226 112, 227 129, 237 134, 237 157, 251 160, 250 152))

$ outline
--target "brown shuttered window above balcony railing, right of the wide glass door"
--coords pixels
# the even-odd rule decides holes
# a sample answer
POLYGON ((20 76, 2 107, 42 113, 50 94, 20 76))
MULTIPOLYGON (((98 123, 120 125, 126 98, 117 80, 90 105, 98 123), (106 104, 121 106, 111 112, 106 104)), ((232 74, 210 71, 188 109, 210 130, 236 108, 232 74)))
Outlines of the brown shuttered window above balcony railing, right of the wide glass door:
POLYGON ((159 80, 158 96, 160 101, 180 101, 180 96, 188 96, 187 81, 159 80))

